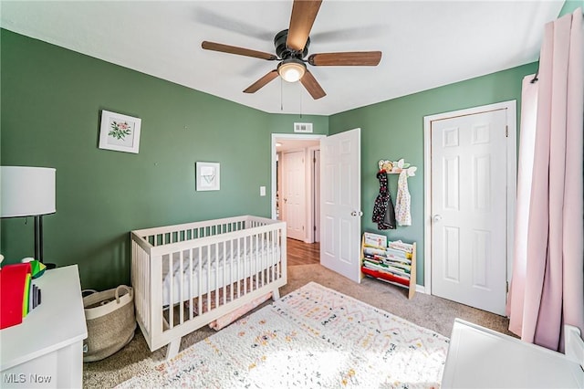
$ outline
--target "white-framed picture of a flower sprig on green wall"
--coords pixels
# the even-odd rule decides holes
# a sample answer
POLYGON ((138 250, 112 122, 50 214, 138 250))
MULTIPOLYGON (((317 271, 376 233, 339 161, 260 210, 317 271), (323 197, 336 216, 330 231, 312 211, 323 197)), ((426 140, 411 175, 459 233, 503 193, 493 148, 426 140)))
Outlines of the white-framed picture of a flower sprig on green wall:
POLYGON ((141 119, 101 110, 99 148, 116 152, 138 153, 141 119))

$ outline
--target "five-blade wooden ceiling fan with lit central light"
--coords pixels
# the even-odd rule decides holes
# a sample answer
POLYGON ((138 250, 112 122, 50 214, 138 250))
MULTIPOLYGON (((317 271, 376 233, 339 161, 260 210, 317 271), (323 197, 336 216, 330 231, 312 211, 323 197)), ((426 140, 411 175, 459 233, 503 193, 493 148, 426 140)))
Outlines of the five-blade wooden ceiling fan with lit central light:
POLYGON ((255 81, 245 93, 255 93, 266 86, 268 82, 279 75, 288 82, 300 81, 313 99, 317 100, 327 95, 320 87, 317 79, 308 71, 307 63, 312 66, 377 66, 381 60, 381 51, 352 51, 341 53, 312 54, 308 58, 310 45, 310 30, 317 17, 322 0, 294 0, 290 26, 280 31, 274 37, 276 54, 256 51, 244 47, 235 47, 203 41, 201 47, 205 50, 220 51, 239 56, 279 61, 274 70, 255 81))

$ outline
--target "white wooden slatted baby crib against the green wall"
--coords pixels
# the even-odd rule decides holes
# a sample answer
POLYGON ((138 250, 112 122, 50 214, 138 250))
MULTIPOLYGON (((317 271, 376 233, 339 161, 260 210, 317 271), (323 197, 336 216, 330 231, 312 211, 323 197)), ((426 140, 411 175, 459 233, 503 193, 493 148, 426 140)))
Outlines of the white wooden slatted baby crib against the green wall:
POLYGON ((236 216, 131 232, 136 321, 151 351, 287 283, 286 223, 236 216))

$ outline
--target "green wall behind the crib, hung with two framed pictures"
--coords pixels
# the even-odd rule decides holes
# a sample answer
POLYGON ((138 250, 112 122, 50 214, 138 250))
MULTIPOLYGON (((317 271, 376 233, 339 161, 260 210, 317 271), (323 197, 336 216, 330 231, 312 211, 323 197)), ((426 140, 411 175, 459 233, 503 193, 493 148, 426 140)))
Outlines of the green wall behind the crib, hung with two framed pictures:
MULTIPOLYGON (((83 288, 130 282, 129 231, 271 216, 271 132, 328 117, 272 115, 1 30, 3 165, 57 168, 45 260, 77 263, 83 288), (138 154, 101 150, 100 110, 141 118, 138 154), (194 190, 194 163, 221 163, 221 190, 194 190), (267 195, 259 196, 259 186, 267 195)), ((33 220, 2 221, 6 262, 32 257, 33 220)))

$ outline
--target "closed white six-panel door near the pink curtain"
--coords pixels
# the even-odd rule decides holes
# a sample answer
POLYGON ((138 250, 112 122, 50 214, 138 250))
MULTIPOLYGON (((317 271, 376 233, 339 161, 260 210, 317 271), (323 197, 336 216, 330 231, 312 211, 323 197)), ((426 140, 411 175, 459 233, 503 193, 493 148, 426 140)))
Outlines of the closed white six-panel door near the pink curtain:
POLYGON ((432 121, 432 294, 505 314, 506 110, 432 121))

